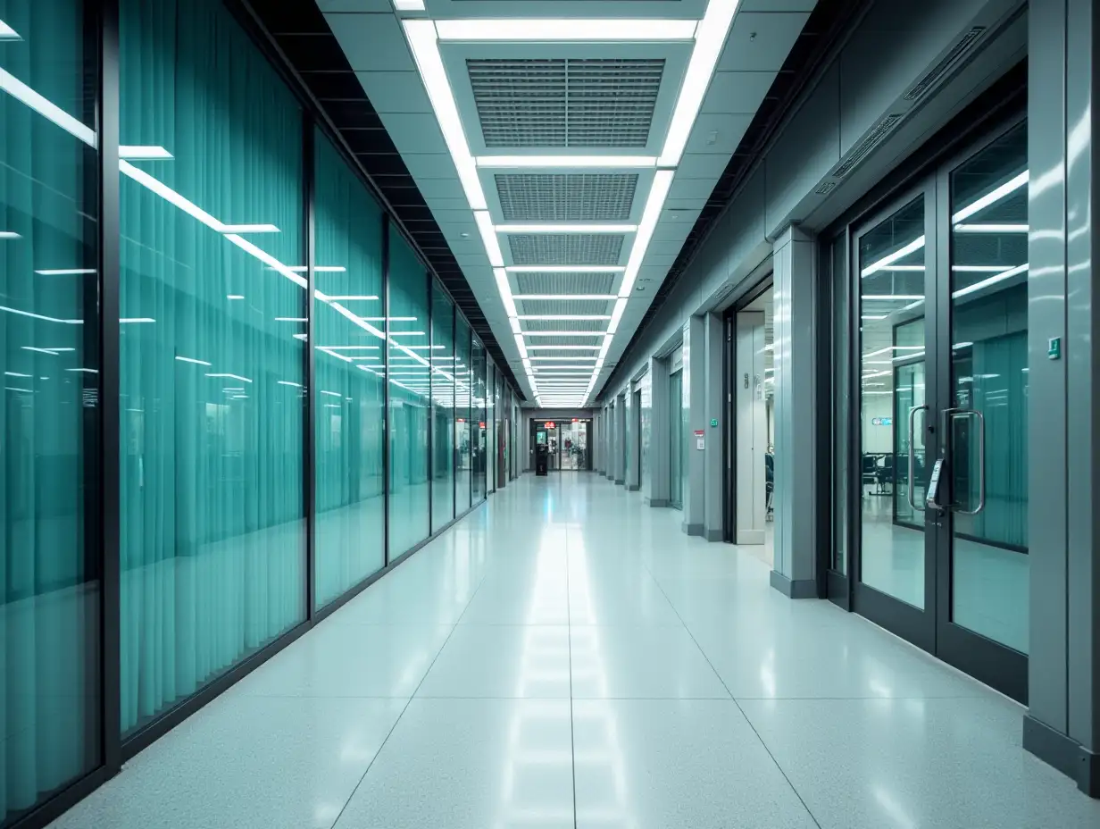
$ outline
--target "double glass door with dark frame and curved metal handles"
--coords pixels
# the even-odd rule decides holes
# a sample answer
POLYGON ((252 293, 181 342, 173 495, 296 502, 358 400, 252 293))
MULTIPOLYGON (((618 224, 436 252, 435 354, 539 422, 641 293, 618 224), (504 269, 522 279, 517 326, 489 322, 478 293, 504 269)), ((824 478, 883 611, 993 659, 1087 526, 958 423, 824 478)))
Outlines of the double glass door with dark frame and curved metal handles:
POLYGON ((1019 124, 854 234, 854 609, 1026 694, 1027 146, 1019 124))

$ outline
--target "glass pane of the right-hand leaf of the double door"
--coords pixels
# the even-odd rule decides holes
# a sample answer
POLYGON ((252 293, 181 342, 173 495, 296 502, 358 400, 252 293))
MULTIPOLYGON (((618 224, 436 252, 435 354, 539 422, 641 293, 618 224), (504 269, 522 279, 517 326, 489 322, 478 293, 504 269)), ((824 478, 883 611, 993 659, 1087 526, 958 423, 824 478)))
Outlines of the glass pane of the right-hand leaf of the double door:
POLYGON ((953 620, 1027 653, 1027 128, 952 174, 953 620))

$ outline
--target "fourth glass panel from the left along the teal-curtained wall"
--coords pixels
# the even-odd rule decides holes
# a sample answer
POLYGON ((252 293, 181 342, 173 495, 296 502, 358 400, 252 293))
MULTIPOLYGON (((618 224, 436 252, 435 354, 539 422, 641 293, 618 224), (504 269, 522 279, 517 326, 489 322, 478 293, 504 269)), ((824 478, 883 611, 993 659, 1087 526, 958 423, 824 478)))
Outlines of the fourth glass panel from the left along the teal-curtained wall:
POLYGON ((389 558, 428 537, 428 272, 389 225, 389 558))

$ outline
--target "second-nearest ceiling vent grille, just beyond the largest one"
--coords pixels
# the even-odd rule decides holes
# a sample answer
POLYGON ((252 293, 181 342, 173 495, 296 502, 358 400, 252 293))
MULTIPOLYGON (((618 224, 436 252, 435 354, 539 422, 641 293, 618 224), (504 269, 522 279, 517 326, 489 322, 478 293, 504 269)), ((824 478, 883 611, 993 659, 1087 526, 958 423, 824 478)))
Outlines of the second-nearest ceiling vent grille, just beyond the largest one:
POLYGON ((505 221, 626 221, 637 173, 499 173, 505 221))

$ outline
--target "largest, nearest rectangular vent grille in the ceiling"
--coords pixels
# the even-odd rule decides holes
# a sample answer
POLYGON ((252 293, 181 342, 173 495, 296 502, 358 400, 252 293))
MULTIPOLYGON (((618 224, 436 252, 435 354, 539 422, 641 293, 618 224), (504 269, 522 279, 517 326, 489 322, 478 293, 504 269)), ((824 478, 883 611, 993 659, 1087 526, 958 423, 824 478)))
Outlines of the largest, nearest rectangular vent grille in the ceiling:
POLYGON ((644 148, 664 61, 469 59, 487 148, 644 148))

